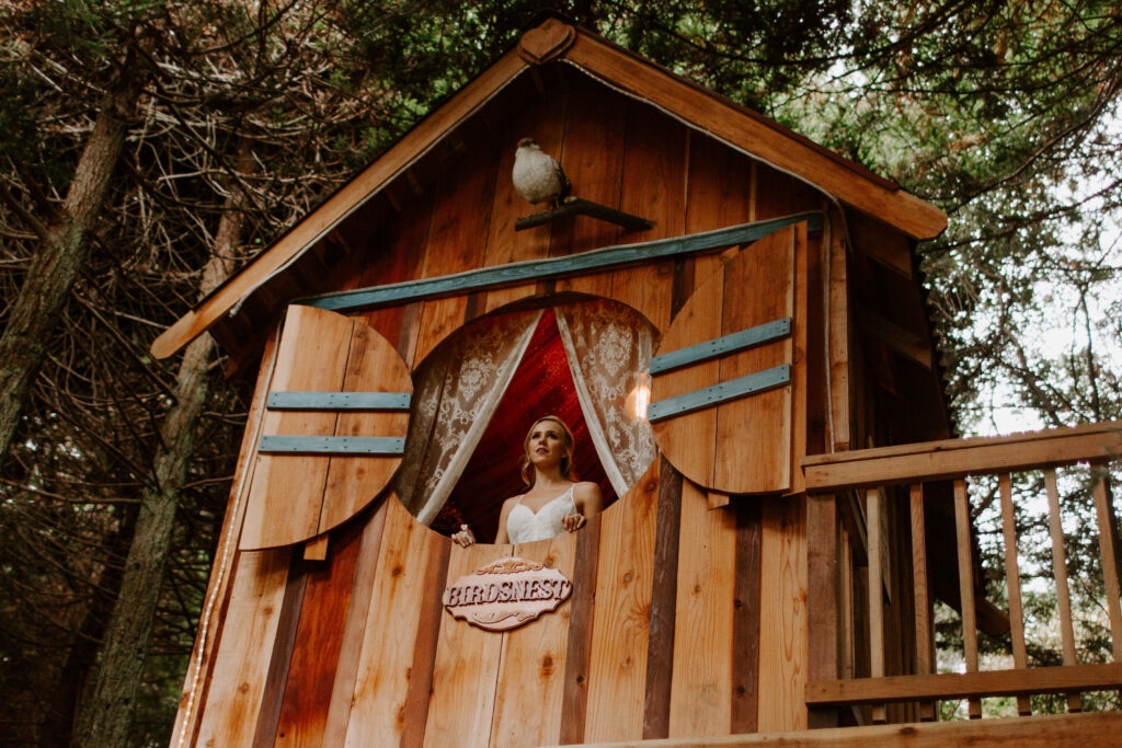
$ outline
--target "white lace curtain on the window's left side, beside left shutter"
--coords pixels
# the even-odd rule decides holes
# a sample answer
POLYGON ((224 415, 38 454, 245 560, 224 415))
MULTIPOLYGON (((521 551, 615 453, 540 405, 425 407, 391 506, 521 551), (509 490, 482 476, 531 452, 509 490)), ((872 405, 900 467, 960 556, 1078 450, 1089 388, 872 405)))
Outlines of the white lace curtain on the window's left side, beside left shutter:
POLYGON ((530 344, 541 312, 488 320, 442 345, 413 391, 395 489, 431 525, 448 501, 530 344))

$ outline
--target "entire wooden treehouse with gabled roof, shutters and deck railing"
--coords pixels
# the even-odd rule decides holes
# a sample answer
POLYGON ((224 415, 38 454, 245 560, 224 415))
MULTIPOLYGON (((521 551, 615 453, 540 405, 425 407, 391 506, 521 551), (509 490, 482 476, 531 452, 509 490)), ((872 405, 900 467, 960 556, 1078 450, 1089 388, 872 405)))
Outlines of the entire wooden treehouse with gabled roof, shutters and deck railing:
MULTIPOLYGON (((1043 470, 1064 570, 1055 469, 1105 465, 1119 425, 950 438, 913 255, 945 222, 592 34, 528 30, 153 347, 209 331, 258 372, 173 745, 1119 735, 1078 693, 1122 664, 1080 664, 1063 604, 1063 664, 1028 667, 1015 553, 1008 607, 978 594, 966 483, 996 475, 1011 518, 1010 473, 1043 470), (515 193, 526 136, 577 200, 515 193), (487 543, 545 413, 608 506, 487 543), (539 574, 517 589, 553 609, 453 616, 491 572, 539 574), (935 674, 936 600, 965 672, 935 674), (1011 668, 978 671, 978 630, 1011 668), (1031 715, 1036 693, 1068 713, 1031 715), (1022 717, 934 720, 994 695, 1022 717)), ((1118 659, 1101 470, 1088 500, 1118 659)))

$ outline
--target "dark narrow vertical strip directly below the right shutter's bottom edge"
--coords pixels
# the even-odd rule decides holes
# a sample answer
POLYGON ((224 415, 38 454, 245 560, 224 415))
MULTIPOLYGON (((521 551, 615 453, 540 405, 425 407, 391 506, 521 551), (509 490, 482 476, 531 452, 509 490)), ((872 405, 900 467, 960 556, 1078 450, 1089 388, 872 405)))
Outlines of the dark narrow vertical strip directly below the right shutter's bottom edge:
POLYGON ((732 732, 755 732, 760 723, 761 542, 760 501, 736 504, 736 587, 733 599, 732 732))

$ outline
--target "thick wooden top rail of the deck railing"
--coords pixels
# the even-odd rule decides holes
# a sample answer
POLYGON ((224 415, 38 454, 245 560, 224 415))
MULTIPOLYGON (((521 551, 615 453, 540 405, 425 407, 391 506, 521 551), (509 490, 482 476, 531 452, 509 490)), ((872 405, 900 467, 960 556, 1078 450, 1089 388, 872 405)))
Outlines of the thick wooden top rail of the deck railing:
POLYGON ((854 450, 804 458, 807 489, 935 481, 1069 464, 1122 454, 1122 422, 854 450))

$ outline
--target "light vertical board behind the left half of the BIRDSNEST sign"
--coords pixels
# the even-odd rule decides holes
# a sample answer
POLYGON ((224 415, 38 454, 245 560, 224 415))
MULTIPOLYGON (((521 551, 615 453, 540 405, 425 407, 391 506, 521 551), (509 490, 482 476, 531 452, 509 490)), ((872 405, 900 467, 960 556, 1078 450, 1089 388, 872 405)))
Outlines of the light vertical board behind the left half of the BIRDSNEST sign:
MULTIPOLYGON (((512 546, 452 546, 447 584, 493 561, 511 555, 512 546)), ((487 631, 444 612, 441 616, 432 696, 424 745, 432 748, 484 747, 490 742, 495 683, 503 635, 487 631)))

